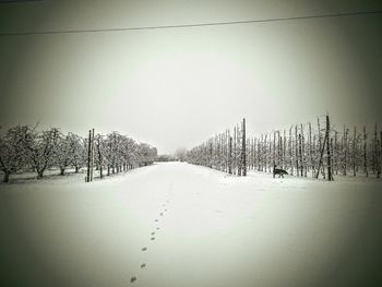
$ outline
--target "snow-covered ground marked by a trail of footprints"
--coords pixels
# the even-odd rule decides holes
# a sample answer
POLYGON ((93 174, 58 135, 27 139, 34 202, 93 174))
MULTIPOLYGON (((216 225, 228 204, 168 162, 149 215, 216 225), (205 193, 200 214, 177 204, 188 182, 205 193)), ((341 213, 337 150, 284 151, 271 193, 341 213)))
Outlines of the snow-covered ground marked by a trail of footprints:
POLYGON ((52 182, 0 186, 2 286, 382 279, 378 180, 237 178, 164 163, 92 183, 52 182))

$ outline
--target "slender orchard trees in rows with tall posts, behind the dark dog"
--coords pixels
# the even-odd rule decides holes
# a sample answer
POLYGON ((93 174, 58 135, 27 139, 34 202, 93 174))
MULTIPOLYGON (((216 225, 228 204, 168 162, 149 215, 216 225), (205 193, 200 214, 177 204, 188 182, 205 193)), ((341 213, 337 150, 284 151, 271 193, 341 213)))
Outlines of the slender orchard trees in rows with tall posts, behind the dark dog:
POLYGON ((272 172, 275 167, 289 174, 333 180, 335 175, 381 176, 382 132, 374 125, 344 125, 334 129, 329 116, 315 123, 290 125, 246 137, 244 121, 188 152, 187 160, 228 174, 246 176, 247 170, 272 172))

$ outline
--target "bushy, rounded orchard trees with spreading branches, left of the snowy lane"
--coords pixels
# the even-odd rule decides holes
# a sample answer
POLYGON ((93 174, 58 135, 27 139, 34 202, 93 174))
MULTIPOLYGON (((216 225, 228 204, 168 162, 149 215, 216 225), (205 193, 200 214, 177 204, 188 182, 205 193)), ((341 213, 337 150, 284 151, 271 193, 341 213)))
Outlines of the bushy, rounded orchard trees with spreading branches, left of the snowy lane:
MULTIPOLYGON (((92 168, 100 170, 100 175, 102 170, 110 175, 151 165, 157 156, 155 147, 118 132, 96 134, 93 145, 92 168)), ((87 164, 88 139, 71 132, 63 134, 58 128, 37 131, 29 125, 16 125, 0 136, 3 182, 9 182, 16 172, 33 171, 40 179, 48 168, 57 167, 64 175, 69 168, 79 172, 87 164)))

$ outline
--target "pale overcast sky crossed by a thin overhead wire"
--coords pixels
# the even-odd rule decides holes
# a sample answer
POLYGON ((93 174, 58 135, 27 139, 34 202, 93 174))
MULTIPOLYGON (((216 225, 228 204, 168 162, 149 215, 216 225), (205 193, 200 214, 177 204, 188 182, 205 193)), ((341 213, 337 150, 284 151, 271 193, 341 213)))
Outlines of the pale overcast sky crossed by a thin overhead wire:
MULTIPOLYGON (((0 3, 0 33, 135 27, 382 10, 381 1, 0 3), (325 2, 330 2, 325 3, 325 2), (380 2, 380 3, 379 3, 380 2)), ((0 124, 120 131, 171 153, 326 111, 381 123, 382 14, 171 29, 0 36, 0 124)))

